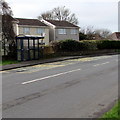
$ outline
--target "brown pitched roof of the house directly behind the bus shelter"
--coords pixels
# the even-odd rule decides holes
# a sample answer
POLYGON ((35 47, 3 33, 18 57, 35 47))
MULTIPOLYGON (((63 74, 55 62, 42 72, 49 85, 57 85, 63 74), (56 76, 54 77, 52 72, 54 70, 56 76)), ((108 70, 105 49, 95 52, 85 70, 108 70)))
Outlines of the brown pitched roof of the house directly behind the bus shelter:
POLYGON ((47 26, 38 19, 25 19, 25 18, 16 18, 19 23, 18 25, 31 25, 31 26, 47 26))

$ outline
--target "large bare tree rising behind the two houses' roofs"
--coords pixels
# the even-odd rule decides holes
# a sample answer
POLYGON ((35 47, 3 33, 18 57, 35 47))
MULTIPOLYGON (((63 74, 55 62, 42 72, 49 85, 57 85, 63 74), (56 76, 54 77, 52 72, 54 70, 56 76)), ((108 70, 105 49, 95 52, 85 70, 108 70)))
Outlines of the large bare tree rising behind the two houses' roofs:
POLYGON ((71 13, 71 11, 65 6, 62 7, 56 7, 51 11, 47 11, 45 13, 42 13, 39 17, 39 19, 47 19, 47 20, 59 20, 59 21, 68 21, 73 24, 78 24, 78 19, 76 18, 76 15, 74 13, 71 13))

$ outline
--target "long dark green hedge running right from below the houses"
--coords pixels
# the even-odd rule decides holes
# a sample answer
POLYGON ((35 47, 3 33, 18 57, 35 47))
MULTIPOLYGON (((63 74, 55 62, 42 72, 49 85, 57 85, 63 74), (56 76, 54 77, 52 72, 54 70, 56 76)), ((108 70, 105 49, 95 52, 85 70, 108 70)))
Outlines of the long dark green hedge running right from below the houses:
POLYGON ((120 41, 111 40, 61 40, 52 44, 57 52, 76 52, 81 50, 120 49, 120 41))

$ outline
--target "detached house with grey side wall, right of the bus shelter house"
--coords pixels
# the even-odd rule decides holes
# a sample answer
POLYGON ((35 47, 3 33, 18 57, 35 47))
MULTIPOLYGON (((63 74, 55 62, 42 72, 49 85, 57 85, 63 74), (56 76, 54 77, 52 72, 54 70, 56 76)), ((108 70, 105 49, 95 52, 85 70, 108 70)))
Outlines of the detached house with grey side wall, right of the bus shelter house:
POLYGON ((79 27, 67 21, 41 20, 49 26, 50 42, 57 40, 79 40, 79 27))

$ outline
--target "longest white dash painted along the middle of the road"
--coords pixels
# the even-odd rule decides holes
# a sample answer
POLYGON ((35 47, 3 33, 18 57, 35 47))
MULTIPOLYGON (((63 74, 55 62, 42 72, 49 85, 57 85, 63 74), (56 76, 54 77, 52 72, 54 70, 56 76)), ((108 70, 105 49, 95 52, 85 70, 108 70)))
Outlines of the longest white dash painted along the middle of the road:
POLYGON ((42 81, 42 80, 53 78, 53 77, 57 77, 57 76, 60 76, 60 75, 65 75, 65 74, 68 74, 68 73, 77 72, 77 71, 80 71, 80 70, 81 69, 71 70, 71 71, 67 71, 67 72, 63 72, 63 73, 59 73, 59 74, 55 74, 55 75, 50 75, 50 76, 39 78, 39 79, 35 79, 35 80, 30 80, 30 81, 27 81, 27 82, 23 82, 21 84, 25 85, 25 84, 29 84, 29 83, 33 83, 33 82, 37 82, 37 81, 42 81))

